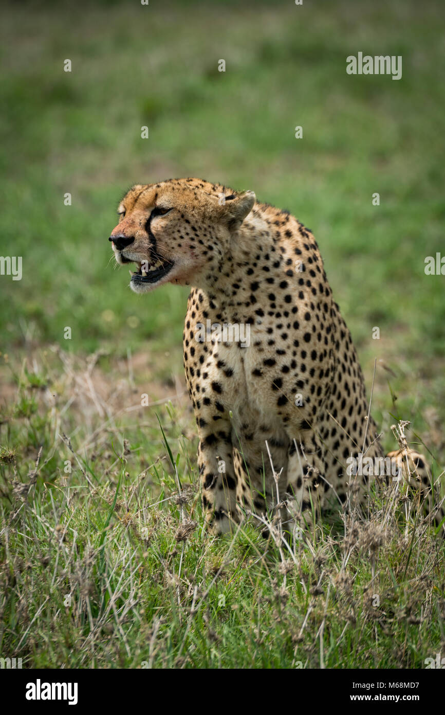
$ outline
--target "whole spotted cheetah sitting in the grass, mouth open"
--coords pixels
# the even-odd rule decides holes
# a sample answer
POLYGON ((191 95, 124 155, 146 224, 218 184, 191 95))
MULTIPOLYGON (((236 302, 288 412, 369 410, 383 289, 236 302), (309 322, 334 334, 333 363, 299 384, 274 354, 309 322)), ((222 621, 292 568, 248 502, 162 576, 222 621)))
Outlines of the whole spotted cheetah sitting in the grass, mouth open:
MULTIPOLYGON (((363 507, 373 472, 348 460, 384 453, 311 230, 252 191, 194 178, 136 184, 118 213, 109 240, 137 265, 131 290, 192 286, 184 367, 209 529, 277 510, 305 527, 333 505, 363 507)), ((389 456, 431 508, 424 458, 389 456)))

